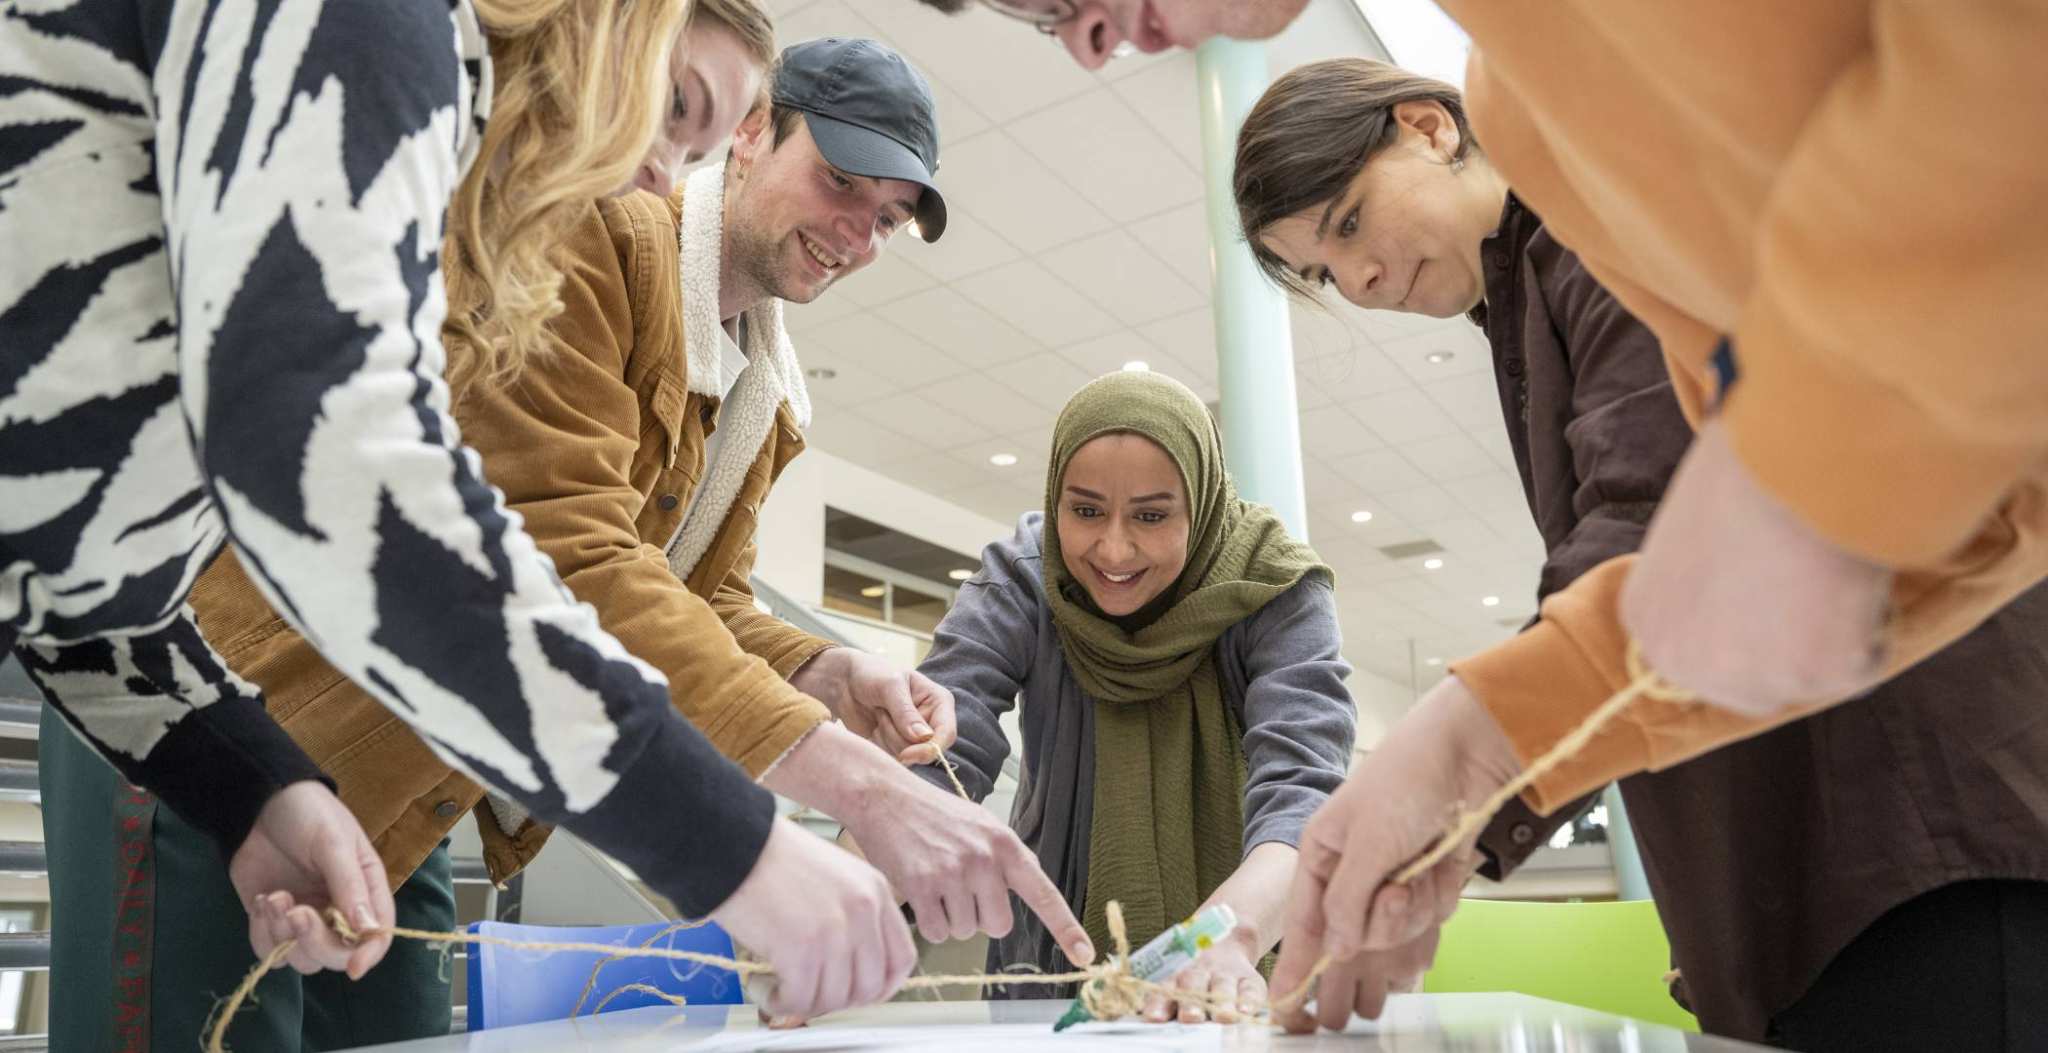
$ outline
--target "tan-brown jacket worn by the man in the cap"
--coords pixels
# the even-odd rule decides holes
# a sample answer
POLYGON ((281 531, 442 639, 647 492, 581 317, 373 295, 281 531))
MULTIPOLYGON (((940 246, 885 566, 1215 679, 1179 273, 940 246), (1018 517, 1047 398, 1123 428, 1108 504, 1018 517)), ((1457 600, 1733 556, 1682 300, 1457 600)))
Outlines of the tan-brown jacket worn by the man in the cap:
MULTIPOLYGON (((662 670, 676 709, 758 778, 829 719, 788 684, 829 643, 760 613, 748 586, 756 516, 803 451, 803 432, 784 402, 717 541, 678 582, 664 545, 705 475, 705 434, 717 418, 717 399, 686 383, 678 215, 680 197, 594 203, 569 238, 555 346, 512 385, 457 397, 455 418, 569 590, 662 670)), ((270 715, 334 776, 393 887, 469 811, 494 881, 541 850, 545 826, 502 830, 479 807, 481 787, 322 662, 231 555, 207 570, 190 602, 207 639, 264 688, 270 715)))

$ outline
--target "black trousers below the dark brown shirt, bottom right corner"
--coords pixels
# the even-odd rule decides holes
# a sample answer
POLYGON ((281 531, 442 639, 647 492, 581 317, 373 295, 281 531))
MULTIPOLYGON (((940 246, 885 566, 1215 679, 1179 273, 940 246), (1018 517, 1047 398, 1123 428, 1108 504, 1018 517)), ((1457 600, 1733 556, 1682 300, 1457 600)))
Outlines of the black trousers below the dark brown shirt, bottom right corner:
POLYGON ((1876 920, 1769 1041, 1800 1053, 2048 1051, 2048 883, 1962 881, 1876 920))

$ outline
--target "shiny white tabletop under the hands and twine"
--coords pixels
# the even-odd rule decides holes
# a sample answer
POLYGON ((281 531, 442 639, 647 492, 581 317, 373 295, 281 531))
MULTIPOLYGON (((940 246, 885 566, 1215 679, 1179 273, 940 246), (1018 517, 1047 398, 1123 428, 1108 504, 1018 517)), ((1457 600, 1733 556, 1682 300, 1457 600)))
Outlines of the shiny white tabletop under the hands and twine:
MULTIPOLYGON (((737 1049, 760 1039, 766 1049, 782 1037, 803 1035, 803 1049, 879 1049, 834 1045, 834 1028, 918 1028, 903 1030, 895 1049, 938 1053, 1049 1053, 1098 1051, 1219 1051, 1260 1053, 1280 1049, 1376 1051, 1376 1053, 1743 1053, 1765 1047, 1686 1035, 1661 1024, 1624 1020, 1604 1012, 1563 1006, 1518 994, 1413 994, 1395 996, 1376 1022, 1354 1020, 1343 1035, 1290 1037, 1266 1026, 1145 1028, 1087 1033, 1075 1028, 1053 1035, 1053 1020, 1065 1002, 891 1002, 825 1016, 799 1033, 760 1028, 754 1006, 666 1006, 555 1020, 518 1028, 451 1035, 418 1043, 377 1047, 383 1053, 670 1053, 713 1045, 737 1049), (1028 1026, 1026 1026, 1028 1024, 1028 1026), (981 1030, 967 1030, 979 1026, 981 1030), (1042 1028, 1042 1030, 1040 1030, 1042 1028), (805 1035, 809 1033, 809 1035, 805 1035), (731 1043, 731 1045, 721 1045, 731 1043)), ((846 1033, 854 1039, 856 1033, 846 1033)))

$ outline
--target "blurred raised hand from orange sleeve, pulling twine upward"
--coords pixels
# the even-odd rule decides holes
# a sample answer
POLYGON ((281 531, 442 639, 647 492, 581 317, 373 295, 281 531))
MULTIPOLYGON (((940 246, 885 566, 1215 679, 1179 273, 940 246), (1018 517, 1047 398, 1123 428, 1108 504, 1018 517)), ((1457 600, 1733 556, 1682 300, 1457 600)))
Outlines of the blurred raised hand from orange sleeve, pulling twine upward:
POLYGON ((1882 680, 1892 574, 1763 492, 1708 420, 1622 586, 1622 625, 1659 676, 1769 717, 1882 680))

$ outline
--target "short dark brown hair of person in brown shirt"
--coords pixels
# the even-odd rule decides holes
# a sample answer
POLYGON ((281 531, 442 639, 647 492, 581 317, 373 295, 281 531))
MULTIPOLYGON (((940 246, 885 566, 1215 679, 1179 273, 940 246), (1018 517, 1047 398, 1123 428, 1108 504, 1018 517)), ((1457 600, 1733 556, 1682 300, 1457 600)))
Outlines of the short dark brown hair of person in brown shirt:
POLYGON ((1372 59, 1327 59, 1300 66, 1266 88, 1237 131, 1231 191, 1237 225, 1260 270, 1288 293, 1315 299, 1317 289, 1262 244, 1278 221, 1333 201, 1358 170, 1395 143, 1401 102, 1442 102, 1458 125, 1458 156, 1479 150, 1464 119, 1458 88, 1372 59))

